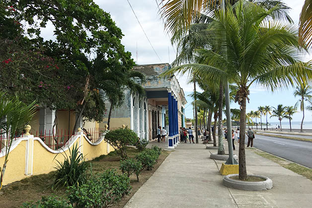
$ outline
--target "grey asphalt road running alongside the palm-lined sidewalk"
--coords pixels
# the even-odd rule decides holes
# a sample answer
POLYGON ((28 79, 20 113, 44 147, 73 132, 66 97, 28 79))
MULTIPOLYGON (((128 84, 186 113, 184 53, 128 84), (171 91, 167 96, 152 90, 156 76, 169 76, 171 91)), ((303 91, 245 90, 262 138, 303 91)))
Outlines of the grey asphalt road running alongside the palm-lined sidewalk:
MULTIPOLYGON (((312 168, 312 142, 255 135, 253 147, 312 168)), ((246 138, 246 144, 248 139, 246 138)))

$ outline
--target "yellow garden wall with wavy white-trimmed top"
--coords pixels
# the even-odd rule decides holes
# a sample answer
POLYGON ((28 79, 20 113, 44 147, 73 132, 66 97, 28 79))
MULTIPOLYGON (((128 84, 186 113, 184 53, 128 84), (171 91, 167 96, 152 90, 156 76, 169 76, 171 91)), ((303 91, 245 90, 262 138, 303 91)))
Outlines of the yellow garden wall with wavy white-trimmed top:
MULTIPOLYGON (((23 138, 12 144, 13 147, 14 144, 20 142, 9 153, 8 163, 3 178, 3 185, 29 177, 31 174, 38 175, 49 173, 55 170, 54 167, 56 167, 56 160, 64 161, 62 153, 69 155, 68 149, 65 152, 61 150, 61 153, 59 154, 57 152, 53 152, 49 148, 47 150, 37 139, 39 138, 23 138), (26 156, 28 156, 27 161, 26 156), (25 174, 26 165, 28 170, 25 174)), ((73 144, 80 146, 79 151, 82 152, 83 156, 85 156, 85 160, 92 160, 95 157, 107 155, 107 143, 105 143, 104 140, 102 140, 99 144, 92 143, 93 145, 91 145, 84 136, 82 136, 82 139, 78 136, 77 139, 73 141, 73 144)), ((70 148, 72 149, 73 146, 74 145, 71 144, 70 148)), ((114 151, 114 149, 110 148, 110 152, 111 151, 114 151)), ((0 165, 2 166, 3 163, 4 156, 0 156, 0 165)))

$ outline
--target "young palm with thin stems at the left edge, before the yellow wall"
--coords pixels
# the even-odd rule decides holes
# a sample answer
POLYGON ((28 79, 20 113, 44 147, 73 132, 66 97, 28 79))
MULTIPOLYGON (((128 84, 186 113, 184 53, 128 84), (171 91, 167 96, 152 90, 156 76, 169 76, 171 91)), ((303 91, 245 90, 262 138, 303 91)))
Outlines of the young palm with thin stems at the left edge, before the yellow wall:
POLYGON ((5 134, 5 156, 2 168, 0 167, 0 190, 5 173, 8 155, 16 132, 21 132, 36 113, 35 102, 26 105, 17 98, 6 98, 0 92, 0 129, 5 134))

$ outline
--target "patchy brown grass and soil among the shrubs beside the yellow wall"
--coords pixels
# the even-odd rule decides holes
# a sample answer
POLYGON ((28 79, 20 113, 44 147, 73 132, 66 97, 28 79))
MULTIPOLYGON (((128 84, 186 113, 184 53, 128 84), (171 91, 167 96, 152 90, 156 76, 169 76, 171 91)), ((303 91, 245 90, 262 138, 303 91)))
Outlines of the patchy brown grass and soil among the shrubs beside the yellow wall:
MULTIPOLYGON (((139 153, 135 148, 128 147, 127 155, 134 158, 139 153)), ((153 175, 163 160, 170 154, 170 151, 161 151, 158 162, 154 165, 153 170, 143 170, 140 174, 140 182, 137 182, 136 175, 130 177, 131 180, 131 194, 123 197, 120 202, 113 205, 111 208, 123 208, 129 199, 138 191, 138 189, 153 175)), ((88 163, 92 165, 93 173, 101 173, 106 169, 119 170, 120 157, 116 152, 110 152, 108 155, 99 156, 88 163)), ((0 191, 0 207, 3 208, 19 208, 24 202, 36 202, 43 196, 56 195, 62 197, 65 195, 66 189, 52 190, 54 183, 54 172, 48 174, 34 175, 25 178, 21 181, 13 182, 2 187, 0 191)))

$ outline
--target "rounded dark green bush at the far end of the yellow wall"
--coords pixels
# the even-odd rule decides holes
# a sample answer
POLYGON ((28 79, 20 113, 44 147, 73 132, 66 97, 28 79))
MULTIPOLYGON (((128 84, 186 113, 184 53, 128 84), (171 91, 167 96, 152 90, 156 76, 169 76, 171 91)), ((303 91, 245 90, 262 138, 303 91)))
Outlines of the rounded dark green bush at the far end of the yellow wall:
POLYGON ((127 158, 127 145, 135 145, 138 141, 137 134, 129 129, 116 129, 106 133, 104 141, 110 144, 121 158, 127 158))

